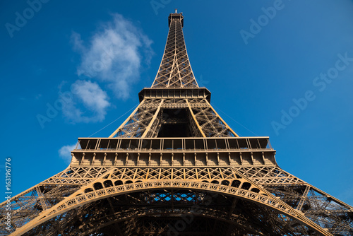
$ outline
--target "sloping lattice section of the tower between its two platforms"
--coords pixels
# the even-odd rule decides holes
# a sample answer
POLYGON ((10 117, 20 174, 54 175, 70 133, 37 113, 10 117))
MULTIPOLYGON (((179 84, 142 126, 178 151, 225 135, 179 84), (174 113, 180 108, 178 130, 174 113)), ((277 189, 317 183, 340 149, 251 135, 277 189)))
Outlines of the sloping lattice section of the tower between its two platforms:
POLYGON ((189 136, 238 136, 204 99, 145 99, 110 137, 155 138, 162 124, 186 123, 189 136), (170 112, 171 111, 171 112, 170 112), (181 119, 180 115, 184 114, 181 119))

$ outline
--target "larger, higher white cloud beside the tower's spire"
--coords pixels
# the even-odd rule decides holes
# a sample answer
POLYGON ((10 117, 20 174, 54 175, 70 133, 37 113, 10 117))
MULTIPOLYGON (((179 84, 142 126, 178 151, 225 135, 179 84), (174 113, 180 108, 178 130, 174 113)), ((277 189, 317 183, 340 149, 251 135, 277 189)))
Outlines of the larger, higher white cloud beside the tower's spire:
POLYGON ((126 99, 140 77, 141 61, 145 58, 149 63, 152 57, 152 41, 123 16, 113 17, 112 22, 101 25, 88 47, 78 33, 72 34, 72 42, 81 56, 78 75, 104 81, 118 98, 126 99))

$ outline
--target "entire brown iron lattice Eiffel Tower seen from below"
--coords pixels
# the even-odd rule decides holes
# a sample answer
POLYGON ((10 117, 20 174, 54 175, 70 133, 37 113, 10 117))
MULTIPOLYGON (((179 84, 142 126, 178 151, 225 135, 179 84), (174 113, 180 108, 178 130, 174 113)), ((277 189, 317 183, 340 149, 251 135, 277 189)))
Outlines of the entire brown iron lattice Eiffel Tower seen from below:
POLYGON ((2 235, 353 235, 353 208, 239 137, 191 69, 171 13, 155 81, 108 138, 78 138, 66 170, 1 203, 2 235))

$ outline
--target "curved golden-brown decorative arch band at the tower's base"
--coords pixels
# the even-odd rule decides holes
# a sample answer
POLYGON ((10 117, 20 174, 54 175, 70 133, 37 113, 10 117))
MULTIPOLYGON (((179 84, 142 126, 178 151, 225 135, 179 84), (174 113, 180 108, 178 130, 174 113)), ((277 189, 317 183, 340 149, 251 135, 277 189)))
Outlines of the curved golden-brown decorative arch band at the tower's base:
MULTIPOLYGON (((106 181, 107 179, 102 179, 106 181)), ((97 182, 95 182, 97 184, 97 182)), ((97 186, 97 185, 96 185, 97 186)), ((107 185, 109 186, 109 185, 107 185)), ((308 228, 319 232, 321 235, 330 235, 327 232, 323 232, 321 228, 306 219, 299 212, 294 211, 290 206, 286 206, 280 200, 276 199, 272 195, 260 194, 246 189, 240 189, 239 187, 225 186, 222 184, 212 184, 208 182, 196 182, 196 181, 179 181, 179 180, 160 180, 151 182, 135 182, 131 184, 122 184, 118 186, 105 187, 105 184, 100 184, 101 189, 92 189, 92 191, 85 192, 85 189, 80 189, 73 196, 64 199, 54 207, 49 208, 47 211, 40 213, 37 218, 31 220, 22 228, 18 228, 13 235, 23 235, 25 232, 41 225, 42 223, 50 220, 56 216, 59 216, 67 211, 83 206, 92 201, 99 201, 101 199, 107 199, 110 196, 119 196, 128 193, 144 191, 144 190, 163 190, 163 189, 193 189, 201 190, 208 193, 224 194, 227 196, 234 196, 244 201, 251 201, 253 203, 265 206, 265 208, 273 209, 280 214, 284 214, 289 218, 293 218, 299 223, 306 225, 308 228)))

